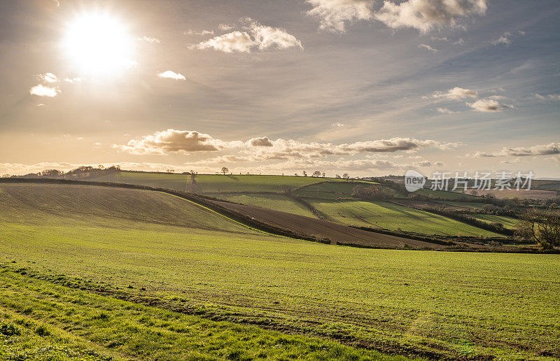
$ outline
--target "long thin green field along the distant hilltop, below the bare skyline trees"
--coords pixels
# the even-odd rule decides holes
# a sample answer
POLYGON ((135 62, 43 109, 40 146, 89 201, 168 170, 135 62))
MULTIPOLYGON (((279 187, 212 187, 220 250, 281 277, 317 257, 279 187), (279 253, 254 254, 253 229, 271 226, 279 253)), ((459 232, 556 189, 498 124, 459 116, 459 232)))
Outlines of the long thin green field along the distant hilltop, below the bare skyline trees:
MULTIPOLYGON (((150 187, 165 187, 172 190, 185 190, 190 183, 188 174, 154 174, 120 171, 94 179, 96 182, 115 182, 150 187)), ((196 177, 202 192, 281 192, 283 187, 302 187, 324 181, 325 178, 296 176, 255 176, 255 175, 214 175, 200 174, 196 177)), ((343 182, 342 179, 329 179, 343 182)))

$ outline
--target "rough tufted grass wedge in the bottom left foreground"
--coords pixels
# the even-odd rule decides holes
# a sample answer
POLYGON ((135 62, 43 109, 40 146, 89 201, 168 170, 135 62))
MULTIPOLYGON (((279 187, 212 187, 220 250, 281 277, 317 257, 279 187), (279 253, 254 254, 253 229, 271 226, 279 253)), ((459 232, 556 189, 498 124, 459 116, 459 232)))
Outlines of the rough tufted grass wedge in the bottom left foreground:
POLYGON ((94 295, 4 269, 1 360, 405 360, 94 295))

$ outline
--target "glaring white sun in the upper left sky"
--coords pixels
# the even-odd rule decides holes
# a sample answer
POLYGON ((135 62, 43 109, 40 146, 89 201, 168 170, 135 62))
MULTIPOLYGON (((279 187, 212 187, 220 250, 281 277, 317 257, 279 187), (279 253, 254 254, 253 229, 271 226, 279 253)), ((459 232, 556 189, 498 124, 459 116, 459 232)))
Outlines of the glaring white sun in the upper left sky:
POLYGON ((112 75, 134 65, 134 40, 118 18, 107 13, 77 16, 66 27, 62 48, 82 73, 112 75))

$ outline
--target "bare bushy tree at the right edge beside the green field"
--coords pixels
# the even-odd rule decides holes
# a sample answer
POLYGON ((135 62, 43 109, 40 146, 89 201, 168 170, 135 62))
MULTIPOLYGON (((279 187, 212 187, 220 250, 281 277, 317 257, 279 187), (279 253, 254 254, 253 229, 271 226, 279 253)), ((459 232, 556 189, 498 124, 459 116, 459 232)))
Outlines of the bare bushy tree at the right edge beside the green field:
POLYGON ((519 216, 515 233, 521 239, 535 241, 544 250, 552 250, 560 246, 560 212, 552 208, 529 209, 519 216))

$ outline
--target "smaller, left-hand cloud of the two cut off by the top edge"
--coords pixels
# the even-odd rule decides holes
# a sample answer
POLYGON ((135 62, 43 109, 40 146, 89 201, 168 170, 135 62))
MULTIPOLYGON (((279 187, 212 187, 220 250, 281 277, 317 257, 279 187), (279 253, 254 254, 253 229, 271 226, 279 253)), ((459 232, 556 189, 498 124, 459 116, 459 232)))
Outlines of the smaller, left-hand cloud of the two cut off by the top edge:
POLYGON ((344 33, 346 22, 370 20, 372 0, 307 0, 313 6, 307 15, 320 21, 319 29, 344 33))

